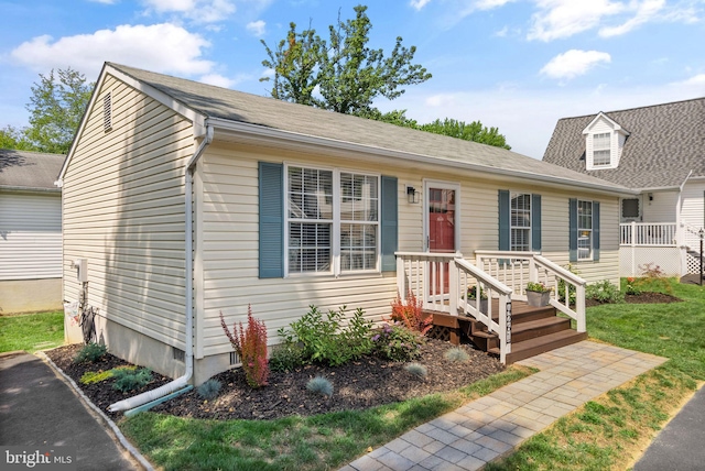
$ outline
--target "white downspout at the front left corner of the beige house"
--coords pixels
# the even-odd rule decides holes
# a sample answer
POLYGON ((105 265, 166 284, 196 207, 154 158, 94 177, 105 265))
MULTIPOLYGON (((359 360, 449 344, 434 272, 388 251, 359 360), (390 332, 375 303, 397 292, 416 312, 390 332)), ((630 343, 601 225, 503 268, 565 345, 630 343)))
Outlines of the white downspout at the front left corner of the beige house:
POLYGON ((185 209, 184 216, 186 221, 186 230, 185 230, 185 282, 186 282, 186 299, 185 299, 185 315, 186 315, 186 371, 184 374, 176 380, 164 384, 152 391, 147 391, 137 396, 128 397, 127 399, 119 401, 115 404, 111 404, 108 407, 110 412, 126 410, 134 407, 139 407, 142 404, 147 404, 149 402, 159 399, 162 396, 173 393, 174 391, 181 390, 188 384, 188 380, 194 373, 194 340, 193 340, 193 330, 194 330, 194 319, 193 319, 193 273, 194 273, 194 262, 193 262, 193 247, 194 247, 194 238, 193 238, 193 215, 192 215, 192 206, 193 206, 193 176, 194 171, 196 168, 196 162, 206 150, 206 146, 213 142, 213 127, 206 125, 206 135, 204 140, 200 142, 200 145, 191 157, 188 165, 186 166, 186 188, 185 188, 185 209))

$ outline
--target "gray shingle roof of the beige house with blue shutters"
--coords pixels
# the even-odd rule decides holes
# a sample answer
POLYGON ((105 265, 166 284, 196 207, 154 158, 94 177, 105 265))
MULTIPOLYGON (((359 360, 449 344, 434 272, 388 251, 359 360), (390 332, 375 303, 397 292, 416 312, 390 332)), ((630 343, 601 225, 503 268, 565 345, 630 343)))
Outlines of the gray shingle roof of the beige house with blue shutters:
POLYGON ((484 167, 488 172, 505 172, 534 178, 550 177, 564 180, 566 184, 599 189, 626 189, 505 149, 234 91, 123 65, 112 63, 106 65, 154 87, 207 118, 360 144, 392 153, 433 157, 441 165, 446 161, 484 167))

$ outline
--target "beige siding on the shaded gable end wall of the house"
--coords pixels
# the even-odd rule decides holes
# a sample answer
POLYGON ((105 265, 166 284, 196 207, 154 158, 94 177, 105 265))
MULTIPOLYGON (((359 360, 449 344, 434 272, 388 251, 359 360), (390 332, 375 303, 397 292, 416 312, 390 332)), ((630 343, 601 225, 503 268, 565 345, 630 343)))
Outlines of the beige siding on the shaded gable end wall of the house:
POLYGON ((88 261, 88 304, 100 315, 184 348, 184 165, 192 124, 108 77, 64 177, 65 297, 79 286, 70 263, 88 261))

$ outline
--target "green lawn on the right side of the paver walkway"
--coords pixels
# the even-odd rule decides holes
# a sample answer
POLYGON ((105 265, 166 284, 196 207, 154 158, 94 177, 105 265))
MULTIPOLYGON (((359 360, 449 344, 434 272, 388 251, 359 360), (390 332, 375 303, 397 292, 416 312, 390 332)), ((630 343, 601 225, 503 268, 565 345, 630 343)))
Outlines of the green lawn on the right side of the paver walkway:
POLYGON ((623 470, 633 464, 705 380, 705 288, 674 280, 652 287, 684 302, 590 307, 587 330, 595 340, 670 360, 561 418, 488 471, 623 470))

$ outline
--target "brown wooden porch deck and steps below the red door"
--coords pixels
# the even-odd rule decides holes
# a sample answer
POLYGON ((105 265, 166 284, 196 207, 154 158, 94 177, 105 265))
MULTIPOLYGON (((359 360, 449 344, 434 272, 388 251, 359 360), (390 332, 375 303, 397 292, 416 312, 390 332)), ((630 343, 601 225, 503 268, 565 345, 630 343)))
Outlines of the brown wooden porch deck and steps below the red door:
MULTIPOLYGON (((498 311, 498 300, 494 299, 492 313, 498 311)), ((433 315, 435 337, 454 344, 467 339, 478 349, 499 355, 497 333, 488 332, 484 324, 463 315, 427 313, 433 315)), ((494 318, 497 320, 496 315, 494 318)), ((513 300, 511 325, 511 352, 507 354, 507 364, 587 339, 587 332, 579 333, 571 328, 571 319, 556 316, 553 306, 532 307, 513 300)))

